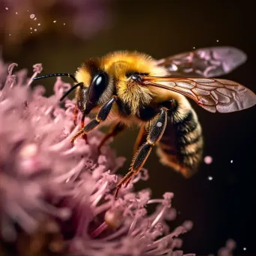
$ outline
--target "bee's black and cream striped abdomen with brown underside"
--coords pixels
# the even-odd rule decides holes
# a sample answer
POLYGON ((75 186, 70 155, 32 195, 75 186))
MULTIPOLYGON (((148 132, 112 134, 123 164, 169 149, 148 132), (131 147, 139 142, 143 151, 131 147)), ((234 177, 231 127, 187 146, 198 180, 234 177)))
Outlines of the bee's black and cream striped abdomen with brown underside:
POLYGON ((178 112, 168 115, 168 124, 157 153, 162 164, 174 168, 184 177, 191 177, 198 170, 203 145, 198 117, 193 109, 189 109, 186 115, 178 112))

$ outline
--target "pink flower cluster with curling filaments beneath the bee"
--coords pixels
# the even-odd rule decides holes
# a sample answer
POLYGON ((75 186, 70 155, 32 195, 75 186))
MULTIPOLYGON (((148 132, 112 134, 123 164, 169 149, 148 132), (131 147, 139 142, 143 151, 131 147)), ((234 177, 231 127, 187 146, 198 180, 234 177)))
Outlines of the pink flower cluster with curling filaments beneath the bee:
POLYGON ((115 172, 124 158, 108 145, 98 155, 99 130, 88 135, 88 144, 79 138, 71 147, 80 128, 73 122, 75 103, 59 102, 71 85, 58 78, 54 94, 44 97, 42 86, 31 89, 40 64, 31 79, 25 70, 13 74, 16 64, 0 66, 0 244, 15 243, 20 230, 33 235, 50 216, 72 254, 183 255, 178 237, 192 222, 169 231, 173 193, 151 199, 149 189, 133 192, 134 183, 148 178, 143 170, 115 200, 112 190, 121 178, 115 172), (152 214, 149 204, 156 205, 152 214))

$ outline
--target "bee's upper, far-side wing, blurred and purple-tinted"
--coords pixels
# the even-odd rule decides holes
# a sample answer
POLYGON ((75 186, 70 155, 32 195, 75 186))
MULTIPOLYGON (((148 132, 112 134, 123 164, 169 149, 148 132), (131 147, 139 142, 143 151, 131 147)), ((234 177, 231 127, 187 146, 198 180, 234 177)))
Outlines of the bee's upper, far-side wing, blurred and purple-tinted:
POLYGON ((197 49, 157 61, 175 77, 214 77, 230 73, 246 62, 240 49, 228 46, 197 49))

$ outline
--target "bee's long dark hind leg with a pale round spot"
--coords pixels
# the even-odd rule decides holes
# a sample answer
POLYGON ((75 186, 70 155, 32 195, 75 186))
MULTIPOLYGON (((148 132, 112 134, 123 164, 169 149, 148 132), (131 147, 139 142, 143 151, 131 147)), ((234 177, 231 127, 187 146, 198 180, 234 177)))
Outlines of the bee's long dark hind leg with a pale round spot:
POLYGON ((167 112, 168 109, 166 108, 159 109, 159 113, 156 114, 155 118, 153 118, 153 122, 150 125, 147 135, 147 141, 142 144, 141 147, 139 147, 138 151, 135 153, 134 158, 132 159, 132 164, 129 168, 130 171, 116 186, 114 195, 115 198, 117 198, 118 191, 121 189, 121 186, 127 186, 132 177, 135 174, 138 174, 146 162, 147 157, 150 155, 152 147, 162 138, 162 134, 165 132, 165 127, 167 124, 167 112))

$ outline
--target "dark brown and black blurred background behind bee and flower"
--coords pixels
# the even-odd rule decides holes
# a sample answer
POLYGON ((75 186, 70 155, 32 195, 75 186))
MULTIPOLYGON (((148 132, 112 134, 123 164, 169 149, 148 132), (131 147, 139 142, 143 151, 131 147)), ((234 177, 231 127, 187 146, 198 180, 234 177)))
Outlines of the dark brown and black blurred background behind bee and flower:
MULTIPOLYGON (((256 92, 255 18, 249 1, 168 0, 1 0, 0 45, 4 61, 19 68, 43 64, 43 74, 74 73, 86 58, 119 49, 138 50, 163 58, 207 46, 234 46, 248 61, 223 76, 256 92)), ((64 79, 72 82, 69 79, 64 79)), ((47 94, 55 79, 45 79, 47 94)), ((183 236, 185 252, 209 255, 228 238, 237 242, 236 255, 255 255, 255 114, 256 108, 228 115, 211 114, 192 103, 204 129, 204 156, 210 165, 189 180, 162 166, 153 152, 145 167, 153 197, 174 192, 177 220, 194 228, 183 236), (212 177, 209 178, 209 177, 212 177)), ((132 159, 138 129, 112 144, 127 162, 132 159)))

